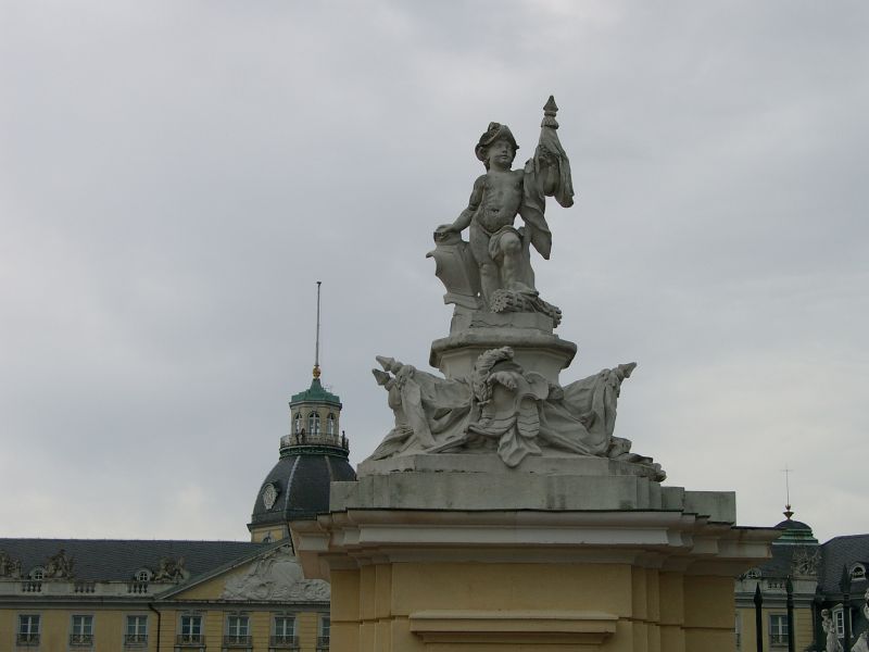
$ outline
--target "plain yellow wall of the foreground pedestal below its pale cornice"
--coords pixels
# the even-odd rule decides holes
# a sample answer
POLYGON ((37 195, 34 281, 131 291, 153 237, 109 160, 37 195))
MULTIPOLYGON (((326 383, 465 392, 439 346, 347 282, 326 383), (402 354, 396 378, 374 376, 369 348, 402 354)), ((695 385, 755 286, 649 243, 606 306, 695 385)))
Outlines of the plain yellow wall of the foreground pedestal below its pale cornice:
POLYGON ((530 652, 554 642, 538 632, 506 647, 487 643, 490 635, 480 635, 473 645, 426 643, 411 631, 410 617, 430 610, 604 612, 619 619, 616 635, 595 648, 602 651, 734 650, 729 577, 629 564, 393 563, 335 570, 331 585, 335 652, 530 652))

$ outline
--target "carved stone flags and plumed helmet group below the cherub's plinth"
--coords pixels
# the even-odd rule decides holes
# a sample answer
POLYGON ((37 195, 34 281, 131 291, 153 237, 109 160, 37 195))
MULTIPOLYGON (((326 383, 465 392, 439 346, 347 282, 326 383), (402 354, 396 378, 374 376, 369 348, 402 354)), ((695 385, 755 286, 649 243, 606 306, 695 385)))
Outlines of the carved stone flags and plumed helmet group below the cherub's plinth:
POLYGON ((527 455, 595 455, 653 466, 615 437, 621 383, 635 363, 571 383, 553 385, 514 361, 509 347, 482 353, 468 378, 439 378, 392 358, 373 369, 388 392, 395 426, 373 460, 412 453, 496 451, 511 467, 527 455))

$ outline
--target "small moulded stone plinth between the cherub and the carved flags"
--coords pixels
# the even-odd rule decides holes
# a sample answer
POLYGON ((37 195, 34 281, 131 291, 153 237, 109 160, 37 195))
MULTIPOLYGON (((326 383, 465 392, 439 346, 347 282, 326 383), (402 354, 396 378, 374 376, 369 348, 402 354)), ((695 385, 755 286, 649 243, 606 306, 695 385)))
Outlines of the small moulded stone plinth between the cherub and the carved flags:
MULTIPOLYGON (((514 323, 525 318, 547 319, 542 315, 528 317, 529 313, 484 314, 514 323)), ((474 363, 482 353, 501 347, 512 348, 515 353, 514 360, 526 372, 537 372, 556 385, 561 371, 567 368, 577 354, 577 346, 574 342, 542 329, 483 326, 458 330, 450 337, 431 342, 429 364, 439 368, 446 378, 466 378, 470 376, 474 363)))

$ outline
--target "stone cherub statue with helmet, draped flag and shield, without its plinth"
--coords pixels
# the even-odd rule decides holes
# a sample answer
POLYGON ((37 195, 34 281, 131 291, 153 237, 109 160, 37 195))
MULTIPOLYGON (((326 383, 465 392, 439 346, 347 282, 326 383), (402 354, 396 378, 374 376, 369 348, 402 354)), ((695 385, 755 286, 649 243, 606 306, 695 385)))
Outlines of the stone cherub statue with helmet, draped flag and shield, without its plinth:
POLYGON ((519 146, 509 127, 490 123, 480 137, 474 151, 486 174, 474 183, 468 206, 455 222, 434 231, 439 249, 430 255, 441 259, 438 276, 448 289, 445 301, 492 312, 541 312, 556 322, 561 318, 558 309, 540 299, 530 260, 531 246, 544 259, 552 250, 552 233, 543 215, 545 197, 554 196, 565 208, 574 203, 570 163, 556 133, 557 111, 550 97, 540 142, 524 170, 511 168, 519 146), (517 215, 525 226, 514 226, 517 215), (468 242, 458 236, 466 228, 468 242), (456 247, 458 252, 453 251, 456 247))

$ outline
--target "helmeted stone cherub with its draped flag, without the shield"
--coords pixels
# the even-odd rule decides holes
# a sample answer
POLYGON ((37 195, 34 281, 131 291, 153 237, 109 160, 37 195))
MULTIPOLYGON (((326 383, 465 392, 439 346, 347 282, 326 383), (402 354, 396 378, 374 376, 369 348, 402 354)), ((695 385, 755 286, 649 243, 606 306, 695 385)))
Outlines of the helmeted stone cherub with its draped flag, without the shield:
POLYGON ((552 234, 543 216, 545 196, 555 196, 564 206, 572 205, 570 164, 555 129, 557 106, 553 98, 544 106, 540 143, 524 170, 512 170, 519 146, 509 127, 490 123, 475 153, 486 174, 474 183, 468 206, 452 224, 439 226, 434 239, 468 229, 470 252, 480 274, 480 292, 492 309, 498 290, 537 298, 530 249, 550 258, 552 234), (516 216, 524 227, 516 228, 516 216))

